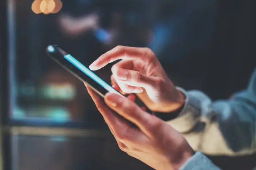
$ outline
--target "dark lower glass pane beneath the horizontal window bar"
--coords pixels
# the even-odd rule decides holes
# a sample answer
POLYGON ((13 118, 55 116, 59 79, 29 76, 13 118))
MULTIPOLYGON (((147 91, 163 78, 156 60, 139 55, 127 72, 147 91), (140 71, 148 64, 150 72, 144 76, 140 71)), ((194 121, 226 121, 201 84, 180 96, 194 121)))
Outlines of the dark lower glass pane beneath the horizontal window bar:
POLYGON ((13 170, 151 170, 113 138, 13 136, 13 170))

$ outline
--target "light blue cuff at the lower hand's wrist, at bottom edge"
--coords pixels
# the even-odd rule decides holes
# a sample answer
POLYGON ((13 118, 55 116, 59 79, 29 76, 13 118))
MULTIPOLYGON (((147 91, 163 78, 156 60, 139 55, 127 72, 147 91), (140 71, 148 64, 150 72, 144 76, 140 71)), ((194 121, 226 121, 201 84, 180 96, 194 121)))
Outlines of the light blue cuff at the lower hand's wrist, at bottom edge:
POLYGON ((220 170, 204 154, 197 152, 180 170, 220 170))

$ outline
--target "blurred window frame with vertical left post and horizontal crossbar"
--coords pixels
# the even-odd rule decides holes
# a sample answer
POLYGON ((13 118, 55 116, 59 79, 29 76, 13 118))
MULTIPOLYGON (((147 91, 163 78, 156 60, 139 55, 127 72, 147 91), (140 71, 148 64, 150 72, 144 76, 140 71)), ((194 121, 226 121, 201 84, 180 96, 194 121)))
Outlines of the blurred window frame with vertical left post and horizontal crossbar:
POLYGON ((38 121, 13 120, 12 112, 15 105, 12 85, 15 84, 15 2, 16 0, 0 0, 2 15, 0 22, 0 169, 17 170, 14 157, 17 149, 17 135, 49 137, 62 135, 67 138, 79 137, 111 137, 107 125, 95 122, 59 123, 50 120, 38 121), (14 31, 13 31, 14 30, 14 31), (36 130, 36 131, 35 131, 36 130))

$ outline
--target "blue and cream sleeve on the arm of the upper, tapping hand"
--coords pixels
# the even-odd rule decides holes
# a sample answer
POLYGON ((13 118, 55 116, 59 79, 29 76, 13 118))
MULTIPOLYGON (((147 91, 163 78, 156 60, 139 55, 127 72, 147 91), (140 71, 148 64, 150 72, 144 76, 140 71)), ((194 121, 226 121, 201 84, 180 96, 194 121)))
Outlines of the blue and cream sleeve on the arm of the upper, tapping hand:
POLYGON ((185 107, 168 123, 183 133, 194 150, 208 155, 256 152, 256 70, 246 90, 213 102, 198 90, 184 91, 185 107))

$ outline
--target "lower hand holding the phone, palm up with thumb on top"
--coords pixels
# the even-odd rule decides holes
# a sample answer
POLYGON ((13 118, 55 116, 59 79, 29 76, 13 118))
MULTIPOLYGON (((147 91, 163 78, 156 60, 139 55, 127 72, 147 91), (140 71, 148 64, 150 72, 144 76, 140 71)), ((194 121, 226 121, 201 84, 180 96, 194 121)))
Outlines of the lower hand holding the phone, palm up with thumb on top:
POLYGON ((156 170, 178 170, 193 155, 193 150, 180 133, 166 122, 141 110, 134 102, 108 93, 105 104, 90 87, 87 90, 119 148, 128 155, 156 170), (125 119, 138 128, 132 127, 125 119))

